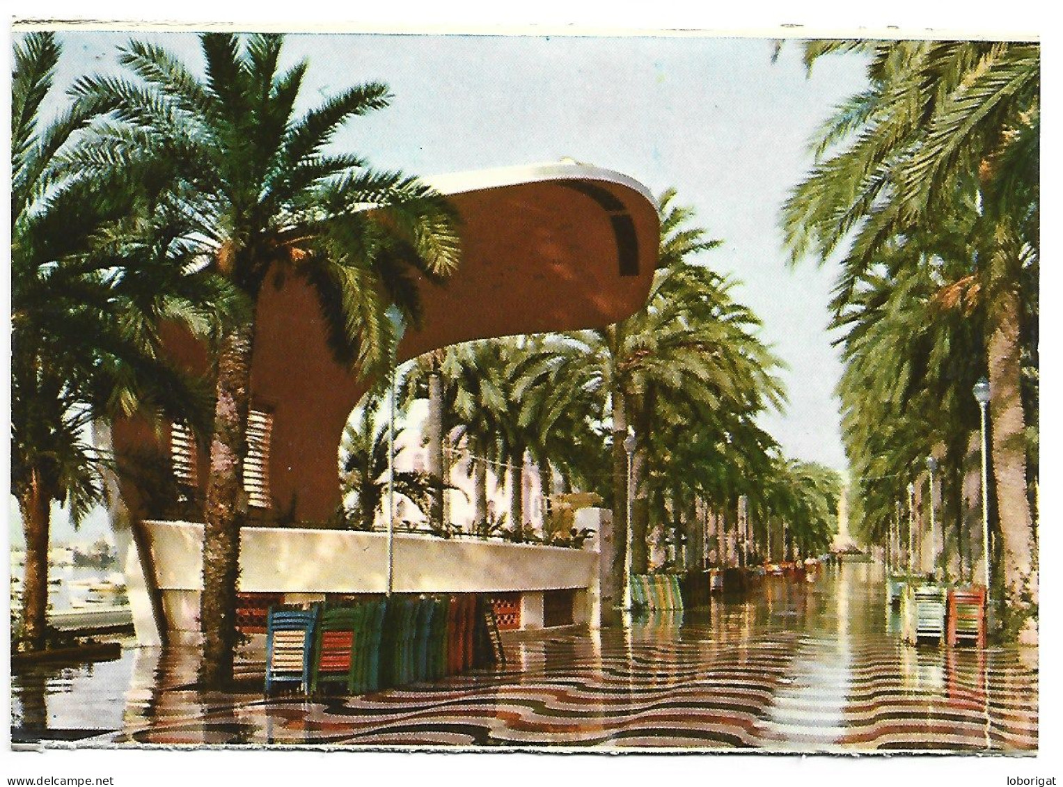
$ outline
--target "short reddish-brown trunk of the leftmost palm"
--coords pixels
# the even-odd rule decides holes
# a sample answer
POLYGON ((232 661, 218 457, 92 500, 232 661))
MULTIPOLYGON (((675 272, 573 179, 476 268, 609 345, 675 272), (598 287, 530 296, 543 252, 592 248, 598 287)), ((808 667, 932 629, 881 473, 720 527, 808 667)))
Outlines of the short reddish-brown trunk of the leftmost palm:
POLYGON ((22 577, 22 631, 29 650, 43 650, 48 629, 48 534, 51 501, 44 490, 41 471, 34 467, 30 481, 18 492, 26 534, 26 572, 22 577))

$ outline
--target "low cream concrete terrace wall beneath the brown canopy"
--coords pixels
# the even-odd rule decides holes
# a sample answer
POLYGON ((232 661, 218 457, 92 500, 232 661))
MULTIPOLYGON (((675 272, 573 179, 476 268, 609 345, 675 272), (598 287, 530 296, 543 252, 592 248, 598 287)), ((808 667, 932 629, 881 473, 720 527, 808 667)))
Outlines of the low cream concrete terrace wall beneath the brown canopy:
MULTIPOLYGON (((145 521, 144 531, 166 626, 179 638, 198 630, 203 526, 145 521)), ((588 546, 593 546, 589 544, 588 546)), ((542 606, 542 592, 575 588, 575 620, 596 625, 600 555, 593 549, 443 540, 395 534, 394 593, 521 592, 522 609, 542 606)), ((239 588, 314 600, 326 593, 384 593, 387 535, 352 530, 246 528, 240 534, 239 588)), ((522 617, 539 628, 541 614, 522 617), (537 620, 538 618, 538 620, 537 620)))

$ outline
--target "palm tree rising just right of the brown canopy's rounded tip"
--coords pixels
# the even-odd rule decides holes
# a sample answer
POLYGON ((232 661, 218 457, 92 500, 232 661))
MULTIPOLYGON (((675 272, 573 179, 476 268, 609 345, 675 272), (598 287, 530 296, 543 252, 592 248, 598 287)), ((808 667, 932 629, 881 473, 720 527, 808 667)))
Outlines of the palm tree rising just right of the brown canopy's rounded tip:
MULTIPOLYGON (((759 321, 730 297, 729 279, 688 259, 718 242, 704 240, 705 230, 686 226, 692 212, 674 207, 674 195, 667 191, 658 202, 660 256, 669 267, 655 275, 645 309, 605 328, 568 335, 570 361, 560 375, 608 401, 602 420, 608 417, 612 428, 611 497, 618 544, 626 542, 632 525, 625 513, 624 440, 629 425, 638 434, 635 489, 642 490, 662 408, 685 409, 688 420, 705 417, 720 424, 782 400, 781 388, 771 374, 778 361, 754 336, 759 321)), ((723 431, 716 434, 722 438, 723 431)), ((631 535, 640 546, 644 537, 644 528, 631 535)), ((618 593, 623 562, 618 550, 610 569, 618 593)))

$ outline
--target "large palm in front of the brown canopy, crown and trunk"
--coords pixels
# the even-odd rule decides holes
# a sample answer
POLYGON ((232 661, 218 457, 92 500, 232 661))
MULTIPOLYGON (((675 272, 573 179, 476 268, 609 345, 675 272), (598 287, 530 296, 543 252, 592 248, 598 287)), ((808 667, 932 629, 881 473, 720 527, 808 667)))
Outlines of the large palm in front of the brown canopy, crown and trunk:
MULTIPOLYGON (((454 270, 456 217, 417 178, 375 172, 331 149, 348 120, 387 105, 387 87, 358 85, 297 116, 307 63, 281 71, 282 41, 202 34, 202 78, 158 47, 130 42, 120 61, 133 76, 74 85, 75 96, 117 108, 69 155, 70 166, 166 177, 167 206, 192 227, 182 238, 189 249, 252 304, 270 271, 304 276, 319 294, 337 360, 369 375, 390 356, 388 305, 418 324, 415 275, 438 279, 454 270)), ((254 340, 252 309, 216 349, 200 609, 200 675, 215 687, 232 677, 254 340)))

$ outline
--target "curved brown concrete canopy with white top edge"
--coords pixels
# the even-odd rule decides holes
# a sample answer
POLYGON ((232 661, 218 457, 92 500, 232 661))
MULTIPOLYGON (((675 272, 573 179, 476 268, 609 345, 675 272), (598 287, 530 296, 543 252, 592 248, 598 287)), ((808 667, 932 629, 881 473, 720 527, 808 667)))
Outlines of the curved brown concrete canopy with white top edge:
MULTIPOLYGON (((461 263, 442 286, 422 283, 423 324, 404 337, 400 360, 472 339, 608 325, 644 305, 659 225, 638 182, 575 162, 429 182, 461 216, 461 263)), ((367 387, 334 360, 317 297, 301 277, 267 284, 256 318, 251 388, 255 407, 273 414, 271 495, 298 520, 322 521, 340 502, 339 442, 367 387)), ((179 355, 193 365, 202 357, 191 347, 179 355)), ((115 447, 146 437, 116 425, 115 447)), ((135 511, 125 493, 123 485, 135 511)))

